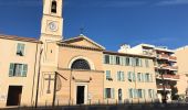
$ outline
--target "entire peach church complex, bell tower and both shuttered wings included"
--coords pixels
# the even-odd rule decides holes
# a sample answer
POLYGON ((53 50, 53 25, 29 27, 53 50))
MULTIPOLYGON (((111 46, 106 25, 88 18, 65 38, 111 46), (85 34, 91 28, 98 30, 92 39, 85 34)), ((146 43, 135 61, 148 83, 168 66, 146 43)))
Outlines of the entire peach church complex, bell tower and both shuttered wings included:
MULTIPOLYGON (((0 106, 155 101, 154 57, 107 52, 82 34, 63 40, 62 4, 62 0, 43 0, 40 40, 12 36, 6 41, 10 36, 0 35, 0 47, 10 44, 7 55, 0 54, 0 68, 4 72, 1 74, 0 106), (14 48, 11 45, 20 41, 30 50, 25 57, 10 53, 14 48), (14 62, 18 66, 11 64, 14 62), (9 73, 15 76, 10 77, 9 73), (9 97, 17 97, 17 102, 12 105, 13 99, 9 97)), ((24 46, 19 45, 22 55, 24 46)))

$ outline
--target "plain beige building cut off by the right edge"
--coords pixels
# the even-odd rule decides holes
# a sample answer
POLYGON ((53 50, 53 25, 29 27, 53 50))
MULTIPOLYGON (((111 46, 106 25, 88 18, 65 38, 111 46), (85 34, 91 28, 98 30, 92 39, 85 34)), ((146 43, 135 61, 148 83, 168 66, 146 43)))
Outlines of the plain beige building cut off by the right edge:
POLYGON ((179 81, 177 84, 178 94, 182 96, 188 96, 188 46, 177 48, 175 51, 178 64, 179 81))

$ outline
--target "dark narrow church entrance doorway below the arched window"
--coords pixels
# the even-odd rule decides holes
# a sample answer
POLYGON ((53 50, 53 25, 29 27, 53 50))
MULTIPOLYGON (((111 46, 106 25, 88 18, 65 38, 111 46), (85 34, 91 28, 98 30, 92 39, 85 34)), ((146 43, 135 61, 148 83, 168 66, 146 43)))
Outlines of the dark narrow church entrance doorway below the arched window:
POLYGON ((84 103, 85 86, 77 86, 76 105, 84 103))

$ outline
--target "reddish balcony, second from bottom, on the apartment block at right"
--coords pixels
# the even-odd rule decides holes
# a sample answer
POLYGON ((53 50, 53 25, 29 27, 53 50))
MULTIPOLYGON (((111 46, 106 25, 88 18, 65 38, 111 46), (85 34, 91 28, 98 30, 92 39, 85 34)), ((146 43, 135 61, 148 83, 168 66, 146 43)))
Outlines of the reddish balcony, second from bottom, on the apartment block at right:
MULTIPOLYGON (((163 75, 165 80, 179 80, 179 75, 163 75)), ((156 75, 157 79, 163 79, 161 75, 156 75)))

